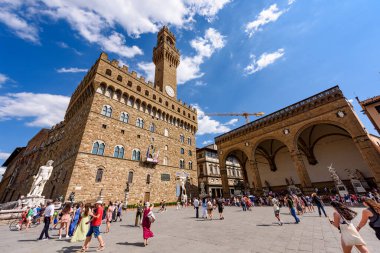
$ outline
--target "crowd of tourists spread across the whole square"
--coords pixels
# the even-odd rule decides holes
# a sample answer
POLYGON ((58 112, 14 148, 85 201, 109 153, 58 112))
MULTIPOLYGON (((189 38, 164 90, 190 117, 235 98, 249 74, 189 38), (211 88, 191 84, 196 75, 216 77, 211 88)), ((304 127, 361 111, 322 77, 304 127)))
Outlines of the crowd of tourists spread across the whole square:
MULTIPOLYGON (((321 217, 327 217, 330 223, 337 227, 341 233, 343 252, 351 252, 355 246, 360 252, 368 252, 364 239, 359 234, 367 223, 374 230, 375 235, 380 240, 380 195, 370 192, 366 196, 347 194, 343 197, 339 195, 321 195, 316 192, 311 195, 303 194, 276 194, 270 192, 266 196, 240 196, 230 199, 204 197, 201 199, 193 198, 186 202, 179 202, 177 209, 193 206, 195 217, 207 220, 215 219, 214 212, 218 211, 218 219, 223 220, 223 210, 225 206, 236 206, 242 211, 252 211, 255 206, 272 206, 274 216, 280 226, 284 224, 280 217, 280 209, 286 208, 293 216, 295 223, 301 222, 300 217, 305 213, 313 213, 318 210, 321 217), (335 212, 330 219, 325 211, 325 203, 330 204, 335 212), (367 209, 362 211, 359 224, 355 227, 352 220, 357 213, 349 207, 354 205, 364 205, 367 209), (201 213, 201 215, 200 215, 201 213)), ((71 242, 84 241, 80 252, 86 252, 89 248, 92 236, 97 238, 99 246, 97 251, 105 249, 105 242, 100 234, 100 225, 105 223, 105 233, 111 230, 111 223, 122 221, 122 210, 125 206, 123 202, 97 201, 94 205, 83 203, 66 203, 62 209, 56 210, 54 203, 48 202, 47 205, 34 206, 27 208, 22 214, 20 230, 25 224, 26 229, 32 222, 37 224, 44 222, 44 227, 39 236, 39 240, 51 239, 49 231, 58 229, 58 238, 62 236, 70 238, 71 242), (57 228, 59 226, 59 228, 57 228)), ((144 245, 148 245, 148 239, 153 237, 150 227, 155 221, 153 214, 153 204, 139 201, 136 204, 135 226, 142 226, 144 245)), ((166 202, 161 201, 158 212, 166 211, 166 202)))

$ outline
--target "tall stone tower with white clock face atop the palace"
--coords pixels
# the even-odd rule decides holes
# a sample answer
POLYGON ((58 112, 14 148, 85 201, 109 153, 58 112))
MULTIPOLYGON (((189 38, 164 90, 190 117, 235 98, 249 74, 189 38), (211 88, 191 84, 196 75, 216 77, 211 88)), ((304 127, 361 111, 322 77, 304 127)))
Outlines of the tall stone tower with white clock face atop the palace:
POLYGON ((175 36, 164 26, 157 34, 157 45, 153 48, 153 62, 156 65, 154 85, 165 95, 177 97, 177 67, 179 51, 175 46, 175 36))

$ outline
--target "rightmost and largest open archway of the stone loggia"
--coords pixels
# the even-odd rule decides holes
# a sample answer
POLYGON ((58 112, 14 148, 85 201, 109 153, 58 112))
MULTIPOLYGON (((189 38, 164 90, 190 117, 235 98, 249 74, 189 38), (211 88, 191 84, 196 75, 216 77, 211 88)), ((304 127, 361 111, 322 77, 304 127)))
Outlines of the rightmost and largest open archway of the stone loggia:
MULTIPOLYGON (((341 180, 350 180, 355 173, 370 186, 376 184, 376 173, 368 157, 343 124, 315 121, 302 126, 295 135, 296 149, 313 182, 334 188, 328 167, 333 165, 341 180), (350 159, 347 159, 350 157, 350 159)), ((366 148, 368 149, 368 148, 366 148)), ((348 189, 351 183, 345 183, 348 189)))

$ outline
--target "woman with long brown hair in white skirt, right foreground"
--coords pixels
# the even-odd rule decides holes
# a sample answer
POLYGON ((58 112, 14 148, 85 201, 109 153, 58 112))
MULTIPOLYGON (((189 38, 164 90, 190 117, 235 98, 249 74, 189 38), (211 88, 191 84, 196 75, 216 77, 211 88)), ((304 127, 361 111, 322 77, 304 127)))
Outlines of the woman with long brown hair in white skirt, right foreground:
POLYGON ((363 238, 352 224, 357 213, 338 201, 332 201, 331 206, 335 212, 330 223, 340 230, 343 252, 350 253, 355 246, 361 253, 368 253, 363 238))

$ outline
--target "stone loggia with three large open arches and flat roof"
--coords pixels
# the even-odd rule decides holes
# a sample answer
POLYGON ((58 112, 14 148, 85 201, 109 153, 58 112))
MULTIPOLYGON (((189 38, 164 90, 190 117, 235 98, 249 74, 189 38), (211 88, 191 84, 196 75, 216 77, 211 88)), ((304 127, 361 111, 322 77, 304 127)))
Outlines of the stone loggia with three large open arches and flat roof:
POLYGON ((338 86, 222 134, 215 143, 225 196, 230 156, 240 162, 251 192, 333 188, 330 165, 350 190, 353 174, 367 188, 380 186, 379 137, 366 132, 338 86))

